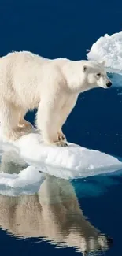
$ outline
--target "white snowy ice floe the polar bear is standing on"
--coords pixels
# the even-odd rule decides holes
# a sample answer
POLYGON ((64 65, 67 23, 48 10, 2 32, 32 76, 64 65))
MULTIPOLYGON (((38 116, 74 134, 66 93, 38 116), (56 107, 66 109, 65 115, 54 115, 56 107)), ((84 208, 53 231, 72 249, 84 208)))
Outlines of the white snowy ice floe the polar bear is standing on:
POLYGON ((14 143, 0 136, 0 156, 2 195, 34 193, 47 174, 68 180, 122 169, 121 161, 97 150, 73 143, 65 148, 46 146, 35 130, 14 143))

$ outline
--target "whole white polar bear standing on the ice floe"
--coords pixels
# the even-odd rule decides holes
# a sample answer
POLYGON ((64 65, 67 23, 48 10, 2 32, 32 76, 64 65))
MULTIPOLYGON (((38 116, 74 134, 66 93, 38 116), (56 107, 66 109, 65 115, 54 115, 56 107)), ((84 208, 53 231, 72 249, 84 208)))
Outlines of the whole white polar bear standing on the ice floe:
POLYGON ((61 128, 79 93, 111 85, 104 61, 50 60, 28 51, 7 54, 0 58, 2 136, 14 141, 31 131, 24 116, 37 108, 35 124, 43 142, 65 147, 61 128))

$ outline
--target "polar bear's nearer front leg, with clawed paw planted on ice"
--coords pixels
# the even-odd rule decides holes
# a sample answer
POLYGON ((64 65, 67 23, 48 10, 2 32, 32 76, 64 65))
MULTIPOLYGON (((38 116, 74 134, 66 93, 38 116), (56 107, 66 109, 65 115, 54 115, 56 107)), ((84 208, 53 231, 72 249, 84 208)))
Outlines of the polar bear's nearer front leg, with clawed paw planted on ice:
POLYGON ((53 103, 40 102, 36 115, 36 126, 42 134, 43 142, 48 145, 56 145, 58 147, 66 147, 68 144, 65 137, 59 130, 59 113, 53 103), (57 132, 59 131, 59 132, 57 132))

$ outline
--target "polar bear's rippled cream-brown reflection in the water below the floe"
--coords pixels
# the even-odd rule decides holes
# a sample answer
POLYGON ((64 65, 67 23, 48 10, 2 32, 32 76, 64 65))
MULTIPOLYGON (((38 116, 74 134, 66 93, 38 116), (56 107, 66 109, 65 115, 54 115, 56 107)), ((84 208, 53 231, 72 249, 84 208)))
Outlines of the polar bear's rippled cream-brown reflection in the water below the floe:
MULTIPOLYGON (((15 165, 15 159, 8 155, 2 155, 1 171, 3 166, 5 173, 13 173, 13 168, 18 173, 20 167, 24 168, 24 163, 19 161, 17 165, 16 158, 15 165)), ((112 243, 83 216, 71 182, 54 176, 46 176, 35 195, 0 195, 0 225, 9 236, 35 237, 56 247, 75 247, 83 255, 109 250, 112 243)))

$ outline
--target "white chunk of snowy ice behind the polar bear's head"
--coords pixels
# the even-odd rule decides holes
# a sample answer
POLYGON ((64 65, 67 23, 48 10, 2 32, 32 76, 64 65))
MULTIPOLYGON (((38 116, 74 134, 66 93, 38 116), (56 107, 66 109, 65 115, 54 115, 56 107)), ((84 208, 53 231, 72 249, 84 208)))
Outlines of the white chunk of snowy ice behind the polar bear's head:
POLYGON ((105 34, 91 46, 88 60, 106 61, 108 72, 122 75, 122 31, 113 35, 105 34))

